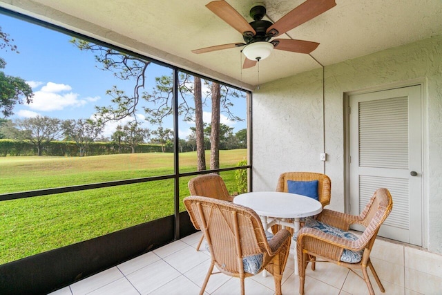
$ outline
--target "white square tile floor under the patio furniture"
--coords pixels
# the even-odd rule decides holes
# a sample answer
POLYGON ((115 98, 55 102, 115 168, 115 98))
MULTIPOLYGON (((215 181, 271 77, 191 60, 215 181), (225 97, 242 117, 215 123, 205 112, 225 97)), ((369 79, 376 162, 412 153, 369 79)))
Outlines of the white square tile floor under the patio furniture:
MULTIPOLYGON (((172 242, 51 295, 198 294, 210 263, 207 251, 195 251, 200 235, 172 242)), ((299 278, 294 274, 293 255, 291 251, 282 279, 282 294, 298 294, 299 278)), ((371 257, 385 294, 442 294, 442 256, 378 238, 371 257)), ((372 285, 374 292, 381 294, 374 278, 372 285)), ((211 276, 205 294, 239 294, 239 290, 238 278, 217 274, 211 276)), ((258 274, 247 278, 245 292, 274 294, 273 277, 258 274)), ((359 295, 368 291, 363 280, 344 267, 318 263, 314 272, 307 267, 305 293, 359 295)))

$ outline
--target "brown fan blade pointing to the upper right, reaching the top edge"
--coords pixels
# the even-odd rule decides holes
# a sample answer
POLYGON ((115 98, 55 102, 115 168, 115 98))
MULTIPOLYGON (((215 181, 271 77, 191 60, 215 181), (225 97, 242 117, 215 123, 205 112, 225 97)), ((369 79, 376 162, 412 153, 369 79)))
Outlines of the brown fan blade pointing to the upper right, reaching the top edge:
POLYGON ((281 17, 276 23, 273 23, 267 33, 273 33, 273 37, 284 34, 285 32, 300 26, 302 23, 317 17, 330 8, 336 6, 335 0, 307 0, 300 6, 291 10, 284 17, 281 17), (273 32, 271 32, 273 30, 273 32), (276 30, 276 31, 275 31, 276 30))

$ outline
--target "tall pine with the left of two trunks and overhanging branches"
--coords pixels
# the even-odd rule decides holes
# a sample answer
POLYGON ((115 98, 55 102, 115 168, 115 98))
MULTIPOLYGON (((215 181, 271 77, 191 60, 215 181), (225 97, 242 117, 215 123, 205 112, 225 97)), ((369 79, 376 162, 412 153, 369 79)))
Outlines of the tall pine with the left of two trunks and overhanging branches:
MULTIPOLYGON (((153 102, 155 104, 153 108, 144 107, 144 112, 147 115, 146 120, 149 122, 161 126, 164 118, 172 115, 175 82, 171 75, 156 77, 153 90, 149 93, 142 93, 146 79, 146 69, 150 61, 145 61, 138 57, 131 57, 130 55, 119 53, 115 50, 104 48, 103 46, 90 44, 79 39, 73 39, 71 41, 80 50, 90 50, 96 53, 95 58, 102 64, 102 69, 113 71, 115 77, 124 80, 135 80, 133 95, 126 95, 124 91, 119 90, 116 86, 107 91, 107 93, 113 97, 113 104, 107 107, 96 107, 97 120, 106 122, 107 120, 119 120, 129 115, 136 117, 135 112, 137 111, 137 104, 141 97, 144 98, 146 102, 153 102)), ((200 82, 201 79, 198 77, 193 77, 185 73, 179 74, 178 93, 176 93, 176 95, 180 95, 180 99, 176 111, 178 115, 184 117, 184 120, 189 122, 194 121, 195 124, 198 124, 196 129, 198 131, 198 169, 205 169, 204 139, 202 138, 201 124, 202 105, 204 102, 202 95, 200 96, 200 82)), ((239 97, 238 92, 231 91, 231 89, 229 90, 229 88, 224 87, 219 96, 218 105, 220 106, 218 110, 222 107, 230 120, 242 120, 240 117, 231 113, 233 104, 230 101, 230 97, 239 97)))

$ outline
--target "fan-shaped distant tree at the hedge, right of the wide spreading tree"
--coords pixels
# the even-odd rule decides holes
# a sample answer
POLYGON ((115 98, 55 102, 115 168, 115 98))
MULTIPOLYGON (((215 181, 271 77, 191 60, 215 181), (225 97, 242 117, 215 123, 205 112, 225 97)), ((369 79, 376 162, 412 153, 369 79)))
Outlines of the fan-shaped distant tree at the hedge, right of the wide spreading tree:
POLYGON ((64 121, 62 128, 66 139, 75 141, 83 157, 89 144, 102 133, 104 125, 90 119, 78 119, 64 121))

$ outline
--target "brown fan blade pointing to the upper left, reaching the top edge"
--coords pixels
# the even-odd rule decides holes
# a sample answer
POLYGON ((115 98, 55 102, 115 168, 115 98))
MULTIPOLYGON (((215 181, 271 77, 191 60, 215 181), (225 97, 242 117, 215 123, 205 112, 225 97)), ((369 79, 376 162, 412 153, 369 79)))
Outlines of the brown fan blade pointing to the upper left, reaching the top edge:
MULTIPOLYGON (((252 36, 256 35, 256 31, 250 26, 246 19, 226 1, 211 1, 206 5, 206 8, 209 8, 215 15, 218 15, 218 17, 242 35, 244 35, 245 32, 251 32, 251 34, 253 34, 252 36)), ((246 35, 250 35, 250 33, 246 35)))

